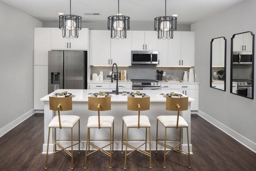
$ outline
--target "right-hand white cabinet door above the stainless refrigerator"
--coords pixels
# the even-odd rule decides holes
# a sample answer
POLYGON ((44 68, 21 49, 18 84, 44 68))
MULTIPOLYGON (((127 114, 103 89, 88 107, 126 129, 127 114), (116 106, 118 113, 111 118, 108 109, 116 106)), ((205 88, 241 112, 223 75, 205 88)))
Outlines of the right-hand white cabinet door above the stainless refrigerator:
POLYGON ((88 29, 79 30, 78 38, 70 38, 70 49, 87 50, 88 49, 88 29))

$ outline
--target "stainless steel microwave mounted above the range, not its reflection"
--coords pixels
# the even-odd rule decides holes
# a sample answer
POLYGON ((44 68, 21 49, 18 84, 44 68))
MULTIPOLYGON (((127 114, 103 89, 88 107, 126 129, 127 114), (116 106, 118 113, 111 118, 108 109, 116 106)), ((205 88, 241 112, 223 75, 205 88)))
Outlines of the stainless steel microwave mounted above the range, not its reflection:
POLYGON ((158 64, 157 51, 131 51, 131 64, 158 64))

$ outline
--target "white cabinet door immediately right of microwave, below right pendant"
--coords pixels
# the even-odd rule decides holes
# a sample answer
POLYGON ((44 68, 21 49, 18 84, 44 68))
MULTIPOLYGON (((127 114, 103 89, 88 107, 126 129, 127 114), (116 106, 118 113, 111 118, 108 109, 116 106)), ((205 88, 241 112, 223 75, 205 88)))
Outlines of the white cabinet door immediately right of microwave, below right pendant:
POLYGON ((158 66, 168 66, 168 40, 158 39, 158 66))

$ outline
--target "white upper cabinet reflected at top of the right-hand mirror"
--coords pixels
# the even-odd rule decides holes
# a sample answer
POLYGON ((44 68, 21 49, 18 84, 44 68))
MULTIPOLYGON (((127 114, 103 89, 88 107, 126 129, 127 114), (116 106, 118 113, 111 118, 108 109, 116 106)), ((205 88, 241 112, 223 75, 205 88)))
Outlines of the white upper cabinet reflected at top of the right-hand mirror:
POLYGON ((253 41, 250 32, 236 35, 236 39, 233 41, 233 52, 253 51, 253 41))

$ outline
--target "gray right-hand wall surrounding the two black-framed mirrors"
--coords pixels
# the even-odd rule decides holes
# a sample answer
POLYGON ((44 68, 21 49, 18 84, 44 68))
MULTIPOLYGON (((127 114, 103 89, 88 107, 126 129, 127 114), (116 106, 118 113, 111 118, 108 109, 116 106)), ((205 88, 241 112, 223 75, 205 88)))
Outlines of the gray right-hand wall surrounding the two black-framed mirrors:
POLYGON ((230 38, 239 32, 256 33, 255 6, 255 0, 246 0, 191 25, 191 31, 195 31, 196 81, 200 82, 199 110, 254 143, 256 143, 256 100, 231 94, 229 85, 230 38), (226 92, 209 87, 210 41, 221 36, 227 39, 226 92))

